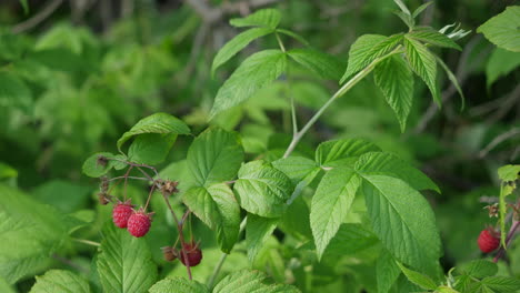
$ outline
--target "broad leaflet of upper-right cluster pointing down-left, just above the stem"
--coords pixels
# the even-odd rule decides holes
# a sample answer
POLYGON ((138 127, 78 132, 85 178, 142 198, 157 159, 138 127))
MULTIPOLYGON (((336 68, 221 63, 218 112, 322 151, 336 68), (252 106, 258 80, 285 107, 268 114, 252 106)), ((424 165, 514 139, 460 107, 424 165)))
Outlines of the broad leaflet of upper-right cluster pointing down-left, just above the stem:
POLYGON ((390 52, 401 40, 402 34, 393 34, 390 37, 363 34, 359 37, 352 47, 350 47, 349 64, 340 83, 343 83, 352 74, 364 69, 377 58, 390 52))

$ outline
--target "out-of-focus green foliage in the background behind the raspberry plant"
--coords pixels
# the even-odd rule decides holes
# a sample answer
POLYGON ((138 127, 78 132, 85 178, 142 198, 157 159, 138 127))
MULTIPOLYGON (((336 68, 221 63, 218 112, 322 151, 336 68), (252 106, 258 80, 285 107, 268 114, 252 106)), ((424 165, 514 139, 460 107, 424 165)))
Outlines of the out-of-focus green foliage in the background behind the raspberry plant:
MULTIPOLYGON (((422 3, 406 2, 411 8, 422 3)), ((381 93, 367 80, 328 110, 297 150, 310 155, 309 150, 323 140, 366 138, 414 162, 442 190, 442 194, 427 195, 443 239, 446 269, 481 256, 476 240, 483 225, 494 221, 482 208, 497 200, 497 168, 519 163, 520 53, 497 49, 474 32, 513 3, 438 0, 421 14, 421 23, 437 29, 460 22, 463 29, 473 31, 460 41, 462 52, 442 51, 466 94, 462 110, 446 77, 439 80, 444 101, 441 110, 417 82, 409 123, 401 133, 381 93)), ((300 121, 304 121, 338 88, 337 81, 320 81, 293 67, 243 105, 208 121, 218 88, 237 64, 251 52, 277 47, 274 38, 258 40, 211 77, 216 52, 239 32, 228 26, 228 20, 266 6, 282 11, 282 28, 333 54, 342 68, 350 44, 361 34, 406 30, 391 13, 394 4, 388 0, 2 0, 0 181, 62 212, 90 211, 96 225, 81 229, 78 236, 99 240, 99 229, 110 209, 97 204, 97 182, 81 175, 81 164, 93 152, 116 152, 116 140, 143 117, 158 111, 171 113, 190 124, 196 134, 218 124, 241 133, 249 159, 279 158, 290 141, 289 94, 297 101, 300 121)), ((300 46, 290 38, 283 41, 286 47, 300 46)), ((190 141, 180 138, 169 163, 159 166, 162 174, 181 184, 186 178, 182 160, 190 141)), ((134 184, 129 192, 139 201, 146 189, 134 184)), ((176 269, 161 260, 159 247, 174 234, 163 204, 158 200, 152 205, 159 222, 148 238, 153 256, 163 265, 162 275, 183 275, 181 266, 176 269)), ((301 200, 291 209, 308 208, 301 200)), ((254 266, 266 269, 277 281, 297 282, 303 289, 308 282, 314 289, 323 285, 323 290, 338 292, 370 284, 373 267, 368 264, 377 255, 371 250, 380 247, 357 245, 356 238, 352 247, 331 244, 328 261, 314 272, 304 270, 312 262, 310 250, 304 245, 288 247, 309 238, 306 221, 286 219, 254 266)), ((193 274, 203 281, 220 252, 206 226, 196 223, 193 229, 206 247, 206 262, 194 267, 193 274)), ((346 226, 341 235, 352 238, 356 233, 364 231, 346 226)), ((512 273, 520 276, 518 246, 509 251, 509 262, 512 273)), ((93 250, 84 245, 70 250, 63 255, 67 262, 57 259, 52 265, 88 275, 93 250)), ((243 250, 239 246, 237 251, 224 271, 248 266, 243 250)), ((28 279, 19 287, 30 287, 31 283, 28 279)))

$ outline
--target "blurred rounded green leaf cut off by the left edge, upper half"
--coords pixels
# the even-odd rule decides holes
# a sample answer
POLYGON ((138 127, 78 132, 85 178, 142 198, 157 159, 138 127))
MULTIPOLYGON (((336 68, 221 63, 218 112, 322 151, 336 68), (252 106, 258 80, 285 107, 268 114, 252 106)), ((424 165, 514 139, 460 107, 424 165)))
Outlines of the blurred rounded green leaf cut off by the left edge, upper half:
POLYGON ((0 71, 0 108, 17 108, 30 113, 32 93, 26 82, 17 75, 0 71))

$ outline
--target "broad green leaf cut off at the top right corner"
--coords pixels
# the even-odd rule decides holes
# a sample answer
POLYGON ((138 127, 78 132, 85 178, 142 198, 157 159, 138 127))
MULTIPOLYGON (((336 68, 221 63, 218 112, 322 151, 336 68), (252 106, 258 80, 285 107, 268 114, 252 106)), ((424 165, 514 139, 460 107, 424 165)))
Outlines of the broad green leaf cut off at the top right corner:
POLYGON ((520 6, 507 7, 506 10, 489 19, 477 29, 477 32, 484 37, 499 48, 520 52, 520 6))

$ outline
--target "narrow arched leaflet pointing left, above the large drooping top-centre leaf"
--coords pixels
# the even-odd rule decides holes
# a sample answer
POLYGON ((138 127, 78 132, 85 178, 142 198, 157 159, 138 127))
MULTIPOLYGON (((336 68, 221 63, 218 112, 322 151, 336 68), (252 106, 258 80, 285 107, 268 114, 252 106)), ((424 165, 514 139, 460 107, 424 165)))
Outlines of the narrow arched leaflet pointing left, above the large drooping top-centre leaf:
POLYGON ((220 65, 226 63, 240 50, 246 48, 250 42, 260 37, 271 33, 272 31, 273 30, 270 28, 253 28, 237 34, 233 39, 231 39, 222 48, 220 48, 219 52, 213 59, 213 64, 211 65, 211 74, 213 74, 220 65))

